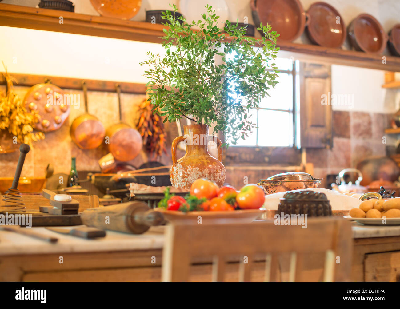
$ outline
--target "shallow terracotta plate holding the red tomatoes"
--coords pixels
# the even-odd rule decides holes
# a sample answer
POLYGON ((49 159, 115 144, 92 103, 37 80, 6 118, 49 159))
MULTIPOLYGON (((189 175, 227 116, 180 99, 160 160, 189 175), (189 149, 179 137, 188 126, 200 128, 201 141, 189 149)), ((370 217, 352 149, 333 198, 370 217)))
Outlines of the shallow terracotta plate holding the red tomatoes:
POLYGON ((184 213, 176 210, 156 208, 162 212, 165 219, 172 224, 198 224, 201 217, 202 224, 216 223, 248 223, 260 217, 265 210, 244 209, 234 211, 189 211, 184 213))

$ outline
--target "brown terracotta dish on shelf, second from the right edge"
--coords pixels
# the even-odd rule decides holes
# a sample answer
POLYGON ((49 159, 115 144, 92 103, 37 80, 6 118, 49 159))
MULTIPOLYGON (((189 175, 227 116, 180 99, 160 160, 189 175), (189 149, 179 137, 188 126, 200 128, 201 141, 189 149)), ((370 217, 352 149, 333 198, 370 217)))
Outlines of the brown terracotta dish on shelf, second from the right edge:
POLYGON ((358 15, 348 26, 347 32, 350 43, 356 50, 371 54, 381 54, 386 48, 388 35, 372 15, 358 15))

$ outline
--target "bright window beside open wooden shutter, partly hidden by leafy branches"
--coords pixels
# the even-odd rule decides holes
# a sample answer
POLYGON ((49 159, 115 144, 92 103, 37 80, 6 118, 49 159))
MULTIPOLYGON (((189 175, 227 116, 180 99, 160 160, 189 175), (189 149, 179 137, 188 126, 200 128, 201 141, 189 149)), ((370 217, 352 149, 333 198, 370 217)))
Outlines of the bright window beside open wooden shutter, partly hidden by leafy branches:
POLYGON ((259 109, 248 113, 250 121, 256 128, 246 140, 239 139, 235 146, 292 147, 296 145, 296 66, 292 59, 276 58, 278 67, 278 84, 268 90, 270 96, 263 98, 259 109))

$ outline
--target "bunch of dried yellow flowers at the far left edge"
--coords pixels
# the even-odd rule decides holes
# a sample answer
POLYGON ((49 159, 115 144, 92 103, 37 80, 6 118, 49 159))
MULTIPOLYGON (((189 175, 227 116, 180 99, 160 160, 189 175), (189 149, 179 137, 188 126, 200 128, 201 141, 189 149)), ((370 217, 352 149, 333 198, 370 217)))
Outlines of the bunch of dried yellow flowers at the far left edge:
POLYGON ((28 112, 24 103, 14 92, 12 78, 7 73, 6 93, 0 92, 0 130, 8 131, 16 136, 18 143, 25 143, 32 147, 32 141, 44 139, 42 132, 33 132, 33 127, 39 121, 36 111, 28 112))

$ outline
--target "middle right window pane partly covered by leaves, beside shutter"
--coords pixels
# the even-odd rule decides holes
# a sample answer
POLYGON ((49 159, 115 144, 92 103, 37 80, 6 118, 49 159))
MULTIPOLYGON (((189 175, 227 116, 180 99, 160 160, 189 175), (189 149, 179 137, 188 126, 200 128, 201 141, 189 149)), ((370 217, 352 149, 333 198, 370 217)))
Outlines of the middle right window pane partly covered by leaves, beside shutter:
POLYGON ((261 108, 274 108, 278 110, 291 110, 293 106, 293 79, 292 74, 278 73, 279 83, 275 88, 270 87, 269 96, 260 101, 261 108))

